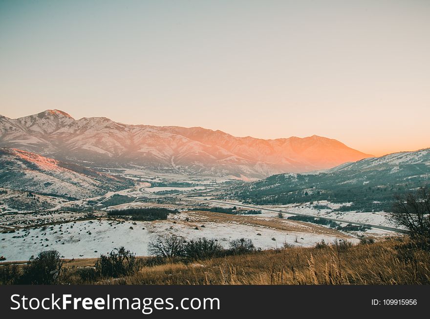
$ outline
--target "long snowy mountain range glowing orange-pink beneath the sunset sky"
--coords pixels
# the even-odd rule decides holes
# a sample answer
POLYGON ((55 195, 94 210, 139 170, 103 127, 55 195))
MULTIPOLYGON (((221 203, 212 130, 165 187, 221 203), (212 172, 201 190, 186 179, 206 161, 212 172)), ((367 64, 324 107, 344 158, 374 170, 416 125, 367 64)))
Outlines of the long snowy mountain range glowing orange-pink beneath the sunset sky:
POLYGON ((328 169, 371 156, 316 135, 263 140, 199 127, 125 125, 104 117, 75 120, 60 110, 18 119, 0 116, 0 147, 100 166, 258 178, 328 169))

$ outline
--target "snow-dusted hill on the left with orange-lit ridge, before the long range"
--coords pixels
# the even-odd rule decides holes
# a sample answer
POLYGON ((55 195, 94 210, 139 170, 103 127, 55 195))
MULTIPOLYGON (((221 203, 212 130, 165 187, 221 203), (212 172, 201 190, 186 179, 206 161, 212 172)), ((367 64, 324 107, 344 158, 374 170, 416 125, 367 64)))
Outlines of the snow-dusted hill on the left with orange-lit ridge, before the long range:
POLYGON ((0 148, 0 185, 13 190, 87 198, 125 189, 133 183, 32 152, 0 148))

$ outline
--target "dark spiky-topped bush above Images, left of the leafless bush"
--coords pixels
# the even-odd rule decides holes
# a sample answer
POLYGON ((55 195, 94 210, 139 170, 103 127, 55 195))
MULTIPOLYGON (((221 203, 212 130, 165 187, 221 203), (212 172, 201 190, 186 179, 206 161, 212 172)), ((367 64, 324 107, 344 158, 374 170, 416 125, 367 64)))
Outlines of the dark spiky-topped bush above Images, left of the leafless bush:
POLYGON ((136 273, 140 270, 141 263, 135 254, 120 247, 113 249, 109 255, 100 255, 94 266, 100 276, 119 277, 136 273))

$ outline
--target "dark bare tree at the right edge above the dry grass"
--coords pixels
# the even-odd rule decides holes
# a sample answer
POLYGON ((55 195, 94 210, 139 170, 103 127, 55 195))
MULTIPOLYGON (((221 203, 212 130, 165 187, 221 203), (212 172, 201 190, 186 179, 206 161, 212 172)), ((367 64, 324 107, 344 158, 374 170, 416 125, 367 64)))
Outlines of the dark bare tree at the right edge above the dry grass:
POLYGON ((416 193, 397 195, 393 204, 391 220, 409 230, 412 237, 430 238, 430 191, 420 188, 416 193))

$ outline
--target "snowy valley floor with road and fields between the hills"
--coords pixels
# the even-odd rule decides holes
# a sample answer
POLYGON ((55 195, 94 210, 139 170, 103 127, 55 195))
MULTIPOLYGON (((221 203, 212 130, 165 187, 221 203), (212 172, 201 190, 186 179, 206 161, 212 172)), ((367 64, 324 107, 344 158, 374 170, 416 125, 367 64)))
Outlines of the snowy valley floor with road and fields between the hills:
MULTIPOLYGON (((73 200, 51 196, 56 201, 51 202, 50 208, 35 211, 6 206, 5 199, 16 191, 2 189, 0 255, 6 262, 25 261, 40 251, 55 249, 64 258, 93 258, 120 246, 137 255, 148 255, 150 240, 166 234, 186 240, 216 238, 223 247, 228 247, 231 240, 250 238, 256 247, 265 250, 284 245, 313 247, 322 240, 330 243, 340 238, 357 243, 362 236, 384 238, 399 231, 390 225, 384 213, 334 214, 331 211, 341 205, 326 201, 319 204, 331 210, 317 210, 314 208, 317 203, 255 206, 225 199, 220 194, 241 183, 227 178, 161 175, 137 169, 109 170, 108 173, 128 178, 135 186, 73 200), (178 213, 169 214, 166 220, 154 221, 108 215, 112 210, 153 207, 178 213), (222 210, 230 211, 222 213, 222 210), (256 214, 247 214, 249 211, 256 214), (336 218, 335 227, 288 218, 297 215, 336 218), (377 218, 372 219, 373 216, 377 218), (350 227, 351 223, 366 223, 367 227, 337 229, 350 227)), ((21 193, 24 199, 33 198, 21 193)))

